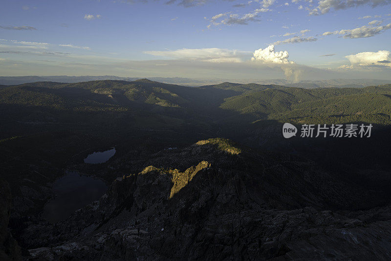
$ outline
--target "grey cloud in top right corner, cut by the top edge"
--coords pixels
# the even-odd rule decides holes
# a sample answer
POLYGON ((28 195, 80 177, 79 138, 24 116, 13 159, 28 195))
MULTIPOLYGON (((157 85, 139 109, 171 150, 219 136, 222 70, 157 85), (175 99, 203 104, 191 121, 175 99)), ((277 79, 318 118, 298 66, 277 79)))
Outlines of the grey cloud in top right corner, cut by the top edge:
POLYGON ((331 9, 340 10, 369 4, 372 7, 390 4, 391 0, 320 0, 319 5, 310 10, 309 15, 326 14, 331 9))

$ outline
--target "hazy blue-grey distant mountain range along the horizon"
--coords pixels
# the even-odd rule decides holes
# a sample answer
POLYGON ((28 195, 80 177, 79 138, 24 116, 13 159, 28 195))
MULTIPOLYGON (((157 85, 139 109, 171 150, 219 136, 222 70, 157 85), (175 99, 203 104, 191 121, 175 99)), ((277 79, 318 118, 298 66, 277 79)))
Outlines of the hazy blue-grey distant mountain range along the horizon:
MULTIPOLYGON (((113 75, 103 76, 0 76, 0 85, 18 85, 30 82, 54 81, 64 83, 77 83, 97 80, 123 80, 134 81, 145 77, 118 77, 113 75)), ((227 81, 227 79, 219 78, 182 78, 182 77, 148 77, 148 79, 156 82, 178 84, 185 86, 202 86, 219 84, 227 81)), ((258 83, 258 84, 275 84, 287 87, 298 87, 305 89, 312 88, 361 88, 373 85, 381 85, 391 83, 391 80, 378 79, 326 79, 326 80, 303 80, 297 83, 290 83, 285 79, 228 79, 229 82, 238 83, 258 83)), ((1 88, 1 86, 0 86, 1 88)))

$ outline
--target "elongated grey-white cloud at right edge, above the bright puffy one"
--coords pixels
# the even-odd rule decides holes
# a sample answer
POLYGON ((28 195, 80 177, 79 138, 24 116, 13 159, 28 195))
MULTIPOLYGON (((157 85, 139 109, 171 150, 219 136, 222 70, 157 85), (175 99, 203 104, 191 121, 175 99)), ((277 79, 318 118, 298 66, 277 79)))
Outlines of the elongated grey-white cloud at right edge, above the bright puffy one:
MULTIPOLYGON (((377 20, 372 21, 372 22, 374 22, 374 24, 381 23, 381 21, 377 21, 377 20)), ((372 22, 369 22, 369 24, 372 22)), ((354 29, 344 29, 344 30, 339 30, 339 31, 337 30, 334 32, 325 32, 322 35, 340 34, 340 35, 344 35, 344 38, 351 38, 351 39, 353 39, 353 38, 366 38, 366 37, 375 36, 376 34, 380 34, 390 28, 391 28, 391 24, 379 25, 379 26, 364 25, 364 26, 354 28, 354 29)))

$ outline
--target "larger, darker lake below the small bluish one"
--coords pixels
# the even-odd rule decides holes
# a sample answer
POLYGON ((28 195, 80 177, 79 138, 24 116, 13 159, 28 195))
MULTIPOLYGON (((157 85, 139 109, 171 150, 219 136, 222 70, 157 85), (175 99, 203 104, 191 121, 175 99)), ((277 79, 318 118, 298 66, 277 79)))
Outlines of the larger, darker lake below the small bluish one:
POLYGON ((43 208, 43 217, 50 222, 65 220, 76 210, 98 200, 107 190, 99 179, 81 175, 77 171, 67 171, 64 177, 53 184, 55 197, 43 208))

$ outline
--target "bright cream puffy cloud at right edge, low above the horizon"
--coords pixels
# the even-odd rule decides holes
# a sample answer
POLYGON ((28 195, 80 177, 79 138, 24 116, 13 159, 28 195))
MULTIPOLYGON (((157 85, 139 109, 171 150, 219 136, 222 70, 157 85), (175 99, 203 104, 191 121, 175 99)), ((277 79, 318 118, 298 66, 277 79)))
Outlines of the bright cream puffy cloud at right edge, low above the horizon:
POLYGON ((380 50, 377 52, 359 52, 345 56, 352 65, 371 66, 380 65, 391 67, 391 52, 380 50))

